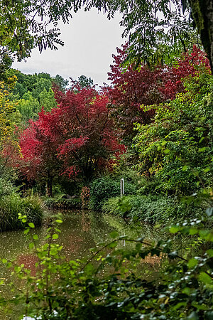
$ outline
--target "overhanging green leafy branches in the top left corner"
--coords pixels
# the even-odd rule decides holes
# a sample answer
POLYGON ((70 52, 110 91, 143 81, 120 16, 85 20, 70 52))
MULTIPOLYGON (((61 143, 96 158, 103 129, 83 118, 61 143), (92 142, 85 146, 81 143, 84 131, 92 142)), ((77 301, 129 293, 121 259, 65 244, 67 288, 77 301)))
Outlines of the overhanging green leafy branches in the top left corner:
POLYGON ((30 56, 35 47, 41 52, 63 45, 58 21, 67 23, 77 6, 67 0, 1 0, 0 5, 0 56, 9 53, 18 60, 30 56))

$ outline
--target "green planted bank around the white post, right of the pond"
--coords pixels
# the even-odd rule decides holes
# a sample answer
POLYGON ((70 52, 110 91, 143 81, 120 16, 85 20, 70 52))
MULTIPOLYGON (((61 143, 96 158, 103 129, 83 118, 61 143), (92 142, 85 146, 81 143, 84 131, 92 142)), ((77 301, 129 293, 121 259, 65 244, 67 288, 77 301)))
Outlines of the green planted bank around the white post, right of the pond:
MULTIPOLYGON (((140 177, 139 177, 140 178, 140 177)), ((127 176, 125 196, 121 198, 119 177, 103 177, 94 180, 90 188, 89 208, 122 218, 133 218, 147 223, 163 224, 200 218, 205 209, 203 201, 196 203, 180 196, 153 193, 151 183, 127 176)))

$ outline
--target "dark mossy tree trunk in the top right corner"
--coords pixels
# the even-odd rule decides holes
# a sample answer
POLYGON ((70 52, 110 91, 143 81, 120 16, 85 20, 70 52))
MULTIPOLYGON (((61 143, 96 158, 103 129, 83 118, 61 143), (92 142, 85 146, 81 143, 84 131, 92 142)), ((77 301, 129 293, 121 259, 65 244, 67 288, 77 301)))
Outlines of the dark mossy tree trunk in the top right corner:
POLYGON ((213 73, 213 1, 189 0, 189 3, 213 73))

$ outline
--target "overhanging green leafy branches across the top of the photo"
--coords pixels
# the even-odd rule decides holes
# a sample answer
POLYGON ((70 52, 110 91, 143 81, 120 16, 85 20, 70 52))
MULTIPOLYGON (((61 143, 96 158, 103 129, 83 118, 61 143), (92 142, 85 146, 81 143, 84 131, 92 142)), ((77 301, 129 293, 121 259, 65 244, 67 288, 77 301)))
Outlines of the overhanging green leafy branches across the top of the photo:
POLYGON ((213 18, 210 0, 1 0, 0 55, 16 55, 19 60, 31 54, 34 47, 56 50, 63 45, 58 21, 68 23, 71 12, 96 7, 113 18, 116 11, 123 14, 123 36, 129 36, 129 58, 158 61, 182 50, 202 45, 213 69, 213 18), (196 29, 196 28, 197 29, 196 29), (165 43, 167 45, 165 45, 165 43))

